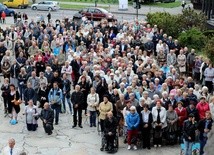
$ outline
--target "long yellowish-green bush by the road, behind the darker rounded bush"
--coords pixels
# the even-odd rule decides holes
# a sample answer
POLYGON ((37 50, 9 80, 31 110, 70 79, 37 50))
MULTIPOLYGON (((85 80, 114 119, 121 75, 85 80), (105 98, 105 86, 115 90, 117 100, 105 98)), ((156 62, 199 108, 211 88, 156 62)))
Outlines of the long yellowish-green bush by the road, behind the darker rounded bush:
POLYGON ((178 15, 171 15, 167 12, 149 13, 147 14, 147 21, 151 25, 158 25, 165 33, 174 38, 192 27, 196 27, 201 31, 205 30, 206 27, 206 16, 192 9, 185 9, 182 14, 178 15))

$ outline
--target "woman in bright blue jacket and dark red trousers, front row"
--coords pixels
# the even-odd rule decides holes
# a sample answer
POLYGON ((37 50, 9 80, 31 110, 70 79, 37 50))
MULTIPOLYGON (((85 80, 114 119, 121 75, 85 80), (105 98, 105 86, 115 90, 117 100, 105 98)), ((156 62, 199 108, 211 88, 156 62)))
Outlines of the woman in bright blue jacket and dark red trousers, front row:
MULTIPOLYGON (((140 116, 136 111, 135 106, 130 107, 130 113, 126 117, 127 129, 128 129, 128 150, 131 149, 131 144, 133 138, 137 137, 138 134, 138 126, 140 124, 140 116)), ((133 149, 137 150, 137 146, 134 142, 133 149)))

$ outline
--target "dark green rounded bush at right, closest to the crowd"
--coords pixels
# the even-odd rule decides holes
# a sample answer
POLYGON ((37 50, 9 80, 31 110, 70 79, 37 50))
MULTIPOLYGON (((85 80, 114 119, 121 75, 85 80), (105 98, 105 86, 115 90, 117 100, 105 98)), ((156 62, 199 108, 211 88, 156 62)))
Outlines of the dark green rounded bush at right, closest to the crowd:
POLYGON ((201 51, 206 44, 206 36, 197 28, 191 28, 185 32, 180 33, 178 40, 181 46, 187 46, 188 48, 194 48, 197 51, 201 51))

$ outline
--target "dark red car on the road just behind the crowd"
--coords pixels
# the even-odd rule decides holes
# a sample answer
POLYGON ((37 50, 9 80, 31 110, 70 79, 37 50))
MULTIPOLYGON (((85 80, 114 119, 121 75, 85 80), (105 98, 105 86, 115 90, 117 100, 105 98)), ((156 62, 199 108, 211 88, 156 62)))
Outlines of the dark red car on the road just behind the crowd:
POLYGON ((101 20, 103 18, 107 19, 108 21, 115 20, 114 15, 103 8, 84 8, 80 10, 73 16, 73 19, 80 19, 82 17, 87 17, 88 19, 92 20, 101 20))

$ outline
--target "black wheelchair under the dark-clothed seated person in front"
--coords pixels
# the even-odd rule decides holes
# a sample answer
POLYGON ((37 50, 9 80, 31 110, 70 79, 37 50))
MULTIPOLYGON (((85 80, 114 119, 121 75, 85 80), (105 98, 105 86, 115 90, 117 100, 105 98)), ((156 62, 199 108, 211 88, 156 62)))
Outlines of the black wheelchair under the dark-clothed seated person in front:
POLYGON ((113 142, 113 148, 107 148, 107 140, 106 140, 106 136, 104 135, 104 133, 101 134, 102 136, 102 140, 101 140, 101 148, 100 151, 106 151, 108 153, 116 153, 118 151, 119 148, 119 135, 118 133, 116 133, 115 138, 114 138, 114 142, 113 142))

